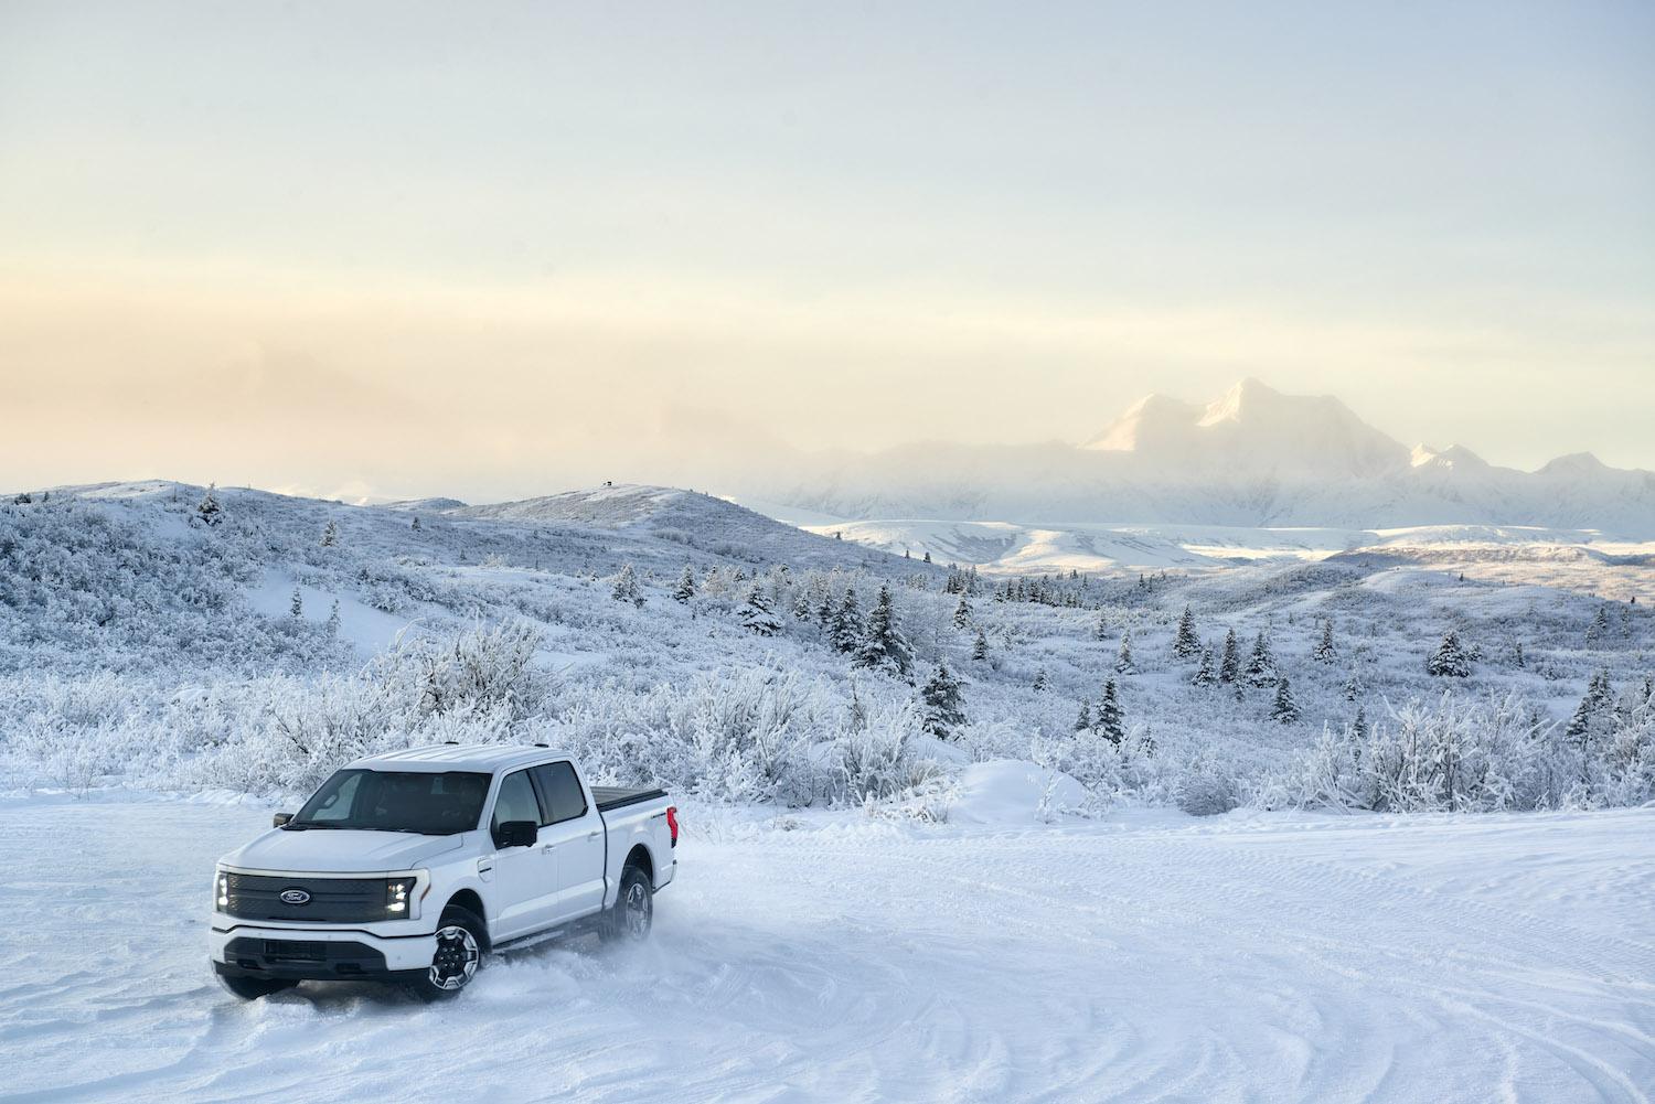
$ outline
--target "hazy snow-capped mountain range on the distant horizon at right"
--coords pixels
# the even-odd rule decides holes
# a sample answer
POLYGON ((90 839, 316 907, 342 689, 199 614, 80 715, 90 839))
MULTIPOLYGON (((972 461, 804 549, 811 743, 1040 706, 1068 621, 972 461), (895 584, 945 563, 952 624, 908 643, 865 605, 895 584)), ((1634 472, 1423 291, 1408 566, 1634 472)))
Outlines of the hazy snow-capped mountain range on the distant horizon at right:
POLYGON ((1149 396, 1081 445, 910 445, 735 490, 776 516, 811 511, 816 525, 1521 525, 1655 538, 1652 472, 1590 455, 1519 472, 1460 445, 1408 449, 1336 397, 1256 379, 1208 404, 1149 396))

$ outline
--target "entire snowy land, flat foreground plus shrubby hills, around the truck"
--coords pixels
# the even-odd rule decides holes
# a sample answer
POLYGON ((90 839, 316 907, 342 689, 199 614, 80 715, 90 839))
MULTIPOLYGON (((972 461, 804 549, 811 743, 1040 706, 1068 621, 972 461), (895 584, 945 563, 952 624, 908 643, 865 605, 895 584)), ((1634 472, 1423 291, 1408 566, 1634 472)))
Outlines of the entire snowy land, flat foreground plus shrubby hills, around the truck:
POLYGON ((1648 1099, 1638 550, 1162 540, 1236 554, 978 573, 659 487, 0 503, 0 1099, 1648 1099), (654 942, 220 993, 213 859, 444 740, 667 786, 654 942))

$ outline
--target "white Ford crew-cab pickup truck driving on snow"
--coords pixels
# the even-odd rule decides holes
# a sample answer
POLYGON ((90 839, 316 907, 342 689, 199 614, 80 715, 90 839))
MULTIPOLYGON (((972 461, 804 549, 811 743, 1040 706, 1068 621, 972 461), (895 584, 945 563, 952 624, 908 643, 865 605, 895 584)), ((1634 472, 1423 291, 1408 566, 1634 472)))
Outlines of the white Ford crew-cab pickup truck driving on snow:
POLYGON ((588 786, 544 746, 357 760, 218 861, 212 965, 245 1000, 301 980, 458 993, 490 948, 576 922, 644 938, 677 869, 660 790, 588 786))

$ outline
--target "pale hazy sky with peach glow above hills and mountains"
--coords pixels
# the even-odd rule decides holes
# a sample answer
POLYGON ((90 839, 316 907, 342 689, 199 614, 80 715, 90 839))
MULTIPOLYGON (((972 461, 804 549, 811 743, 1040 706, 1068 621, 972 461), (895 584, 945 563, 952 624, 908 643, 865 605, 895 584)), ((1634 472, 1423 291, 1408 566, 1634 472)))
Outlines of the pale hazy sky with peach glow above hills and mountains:
POLYGON ((1655 468, 1655 5, 0 0, 0 487, 687 483, 1248 374, 1655 468))

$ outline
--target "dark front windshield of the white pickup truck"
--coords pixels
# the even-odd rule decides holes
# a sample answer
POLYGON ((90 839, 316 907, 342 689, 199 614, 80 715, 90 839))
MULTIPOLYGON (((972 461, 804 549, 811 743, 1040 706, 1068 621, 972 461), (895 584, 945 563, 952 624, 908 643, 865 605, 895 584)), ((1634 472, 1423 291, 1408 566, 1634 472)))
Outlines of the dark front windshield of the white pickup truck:
POLYGON ((488 775, 343 770, 305 803, 290 829, 356 828, 452 836, 477 828, 488 775))

